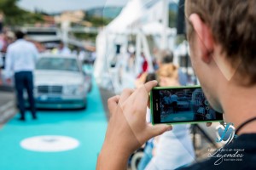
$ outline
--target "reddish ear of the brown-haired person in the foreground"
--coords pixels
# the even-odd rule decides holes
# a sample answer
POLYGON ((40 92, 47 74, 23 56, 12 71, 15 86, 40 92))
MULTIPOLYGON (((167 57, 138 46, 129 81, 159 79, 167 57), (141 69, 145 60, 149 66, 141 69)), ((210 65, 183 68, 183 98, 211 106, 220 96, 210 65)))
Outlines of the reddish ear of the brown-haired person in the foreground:
POLYGON ((189 16, 189 21, 195 30, 194 42, 198 43, 197 50, 200 50, 201 59, 206 63, 211 62, 214 50, 211 29, 201 20, 198 14, 191 14, 189 16))

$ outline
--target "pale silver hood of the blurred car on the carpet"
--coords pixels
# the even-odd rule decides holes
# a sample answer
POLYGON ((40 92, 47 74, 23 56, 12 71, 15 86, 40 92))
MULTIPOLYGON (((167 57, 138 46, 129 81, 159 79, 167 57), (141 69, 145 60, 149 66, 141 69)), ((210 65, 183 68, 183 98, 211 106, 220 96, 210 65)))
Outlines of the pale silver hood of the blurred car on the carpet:
POLYGON ((77 85, 84 82, 83 74, 73 71, 35 71, 35 85, 77 85))

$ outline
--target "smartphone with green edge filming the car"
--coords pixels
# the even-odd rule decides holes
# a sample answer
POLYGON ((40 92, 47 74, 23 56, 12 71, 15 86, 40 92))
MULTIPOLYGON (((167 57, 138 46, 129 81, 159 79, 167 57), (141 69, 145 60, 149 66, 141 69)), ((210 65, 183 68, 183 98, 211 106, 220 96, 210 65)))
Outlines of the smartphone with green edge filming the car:
POLYGON ((221 122, 201 87, 153 88, 150 93, 152 124, 221 122))

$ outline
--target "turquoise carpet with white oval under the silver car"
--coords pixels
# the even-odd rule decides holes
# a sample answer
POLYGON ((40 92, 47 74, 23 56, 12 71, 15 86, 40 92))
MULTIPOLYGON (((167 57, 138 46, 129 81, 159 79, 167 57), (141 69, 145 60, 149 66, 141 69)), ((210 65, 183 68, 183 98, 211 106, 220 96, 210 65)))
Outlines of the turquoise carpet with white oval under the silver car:
POLYGON ((107 119, 99 89, 88 95, 86 111, 39 111, 38 120, 26 114, 26 122, 16 116, 0 129, 1 170, 93 170, 101 150, 107 119), (20 141, 41 135, 63 135, 79 140, 79 147, 62 152, 24 150, 20 141))

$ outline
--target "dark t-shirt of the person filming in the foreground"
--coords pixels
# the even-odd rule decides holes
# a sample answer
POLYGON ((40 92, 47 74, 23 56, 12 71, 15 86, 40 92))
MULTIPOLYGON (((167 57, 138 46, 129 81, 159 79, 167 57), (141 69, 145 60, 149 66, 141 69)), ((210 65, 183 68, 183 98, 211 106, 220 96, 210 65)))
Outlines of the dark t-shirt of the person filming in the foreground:
POLYGON ((216 154, 212 153, 211 156, 212 157, 206 161, 201 161, 191 165, 190 167, 183 167, 179 169, 256 170, 256 133, 241 134, 231 144, 225 145, 223 150, 218 150, 216 154), (221 156, 223 156, 223 158, 221 156))

